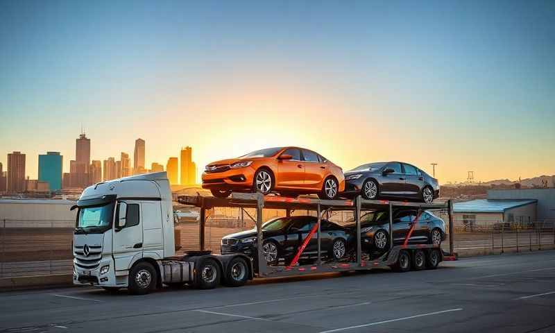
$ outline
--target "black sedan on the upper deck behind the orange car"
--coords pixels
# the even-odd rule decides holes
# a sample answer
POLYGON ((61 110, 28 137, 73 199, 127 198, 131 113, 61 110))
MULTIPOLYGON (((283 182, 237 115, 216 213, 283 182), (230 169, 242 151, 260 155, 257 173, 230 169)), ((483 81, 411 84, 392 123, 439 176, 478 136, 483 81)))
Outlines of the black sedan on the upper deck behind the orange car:
POLYGON ((359 194, 365 199, 402 198, 432 203, 439 196, 439 183, 411 164, 369 163, 345 173, 343 196, 359 194))

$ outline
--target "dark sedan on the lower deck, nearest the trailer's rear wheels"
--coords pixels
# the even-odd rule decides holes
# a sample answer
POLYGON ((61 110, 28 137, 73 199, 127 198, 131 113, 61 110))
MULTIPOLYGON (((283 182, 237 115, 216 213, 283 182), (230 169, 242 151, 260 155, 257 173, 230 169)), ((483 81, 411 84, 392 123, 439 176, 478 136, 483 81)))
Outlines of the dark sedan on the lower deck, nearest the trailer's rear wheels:
MULTIPOLYGON (((441 245, 445 241, 445 222, 442 219, 429 211, 422 212, 418 220, 417 215, 418 210, 393 211, 393 245, 403 244, 415 221, 409 244, 441 245)), ((345 228, 355 230, 356 225, 350 223, 345 228)), ((362 214, 360 231, 361 245, 365 252, 386 250, 389 246, 389 212, 377 210, 362 214)))

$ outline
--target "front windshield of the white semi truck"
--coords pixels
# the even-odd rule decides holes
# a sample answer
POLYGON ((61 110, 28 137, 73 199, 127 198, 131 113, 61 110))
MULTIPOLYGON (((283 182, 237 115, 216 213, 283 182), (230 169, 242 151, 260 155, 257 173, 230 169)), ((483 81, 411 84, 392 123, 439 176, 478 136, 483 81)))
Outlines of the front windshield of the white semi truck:
POLYGON ((101 206, 81 207, 78 214, 76 232, 105 232, 112 228, 114 203, 101 206))

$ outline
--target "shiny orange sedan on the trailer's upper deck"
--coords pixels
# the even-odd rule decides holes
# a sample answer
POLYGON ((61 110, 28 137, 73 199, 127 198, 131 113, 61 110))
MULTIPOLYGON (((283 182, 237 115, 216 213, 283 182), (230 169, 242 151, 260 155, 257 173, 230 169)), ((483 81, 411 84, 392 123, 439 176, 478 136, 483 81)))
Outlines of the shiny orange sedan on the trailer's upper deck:
POLYGON ((289 196, 316 193, 332 199, 345 189, 340 167, 305 148, 280 147, 208 164, 203 189, 225 198, 231 191, 272 191, 289 196))

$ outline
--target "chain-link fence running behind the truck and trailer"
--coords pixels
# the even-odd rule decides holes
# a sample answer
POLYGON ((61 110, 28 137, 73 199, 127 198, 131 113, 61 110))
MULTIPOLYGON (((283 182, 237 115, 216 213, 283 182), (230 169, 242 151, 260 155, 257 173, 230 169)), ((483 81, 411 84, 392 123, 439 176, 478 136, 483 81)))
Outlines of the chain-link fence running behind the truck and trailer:
MULTIPOLYGON (((264 221, 283 212, 267 210, 264 221)), ((296 211, 293 215, 315 212, 296 211)), ((226 208, 207 213, 205 248, 219 253, 225 235, 253 229, 255 210, 226 208)), ((440 216, 441 214, 436 214, 440 216)), ((443 216, 442 216, 443 217, 443 216)), ((344 225, 352 212, 332 212, 330 221, 344 225)), ((447 219, 445 220, 448 228, 447 219)), ((0 219, 0 278, 27 275, 70 274, 71 241, 75 221, 0 219)), ((555 248, 555 221, 501 222, 454 221, 454 250, 461 256, 499 254, 555 248)), ((200 248, 198 221, 182 221, 176 225, 180 244, 178 253, 200 248)), ((443 248, 449 248, 449 236, 443 248)))

